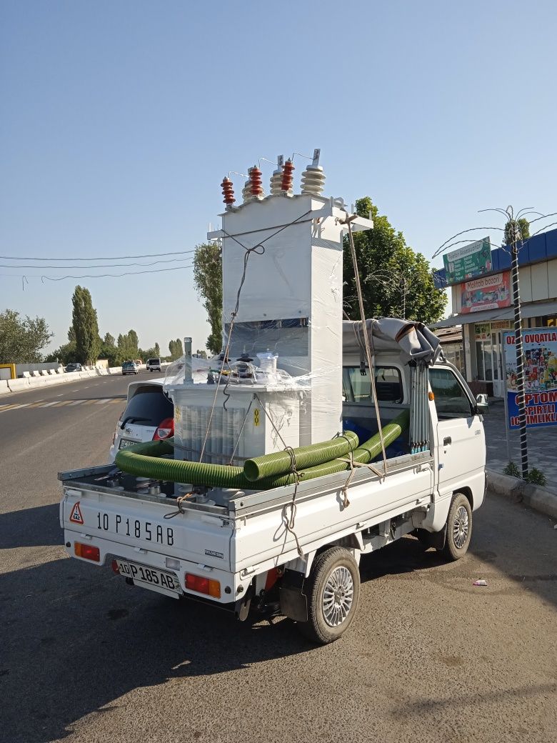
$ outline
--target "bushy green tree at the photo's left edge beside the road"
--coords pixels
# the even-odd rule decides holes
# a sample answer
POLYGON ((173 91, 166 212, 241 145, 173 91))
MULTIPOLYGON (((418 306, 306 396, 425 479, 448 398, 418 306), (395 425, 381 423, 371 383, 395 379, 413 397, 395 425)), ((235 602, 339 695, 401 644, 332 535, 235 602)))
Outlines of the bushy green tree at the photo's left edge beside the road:
POLYGON ((19 312, 0 312, 0 363, 22 364, 42 361, 40 351, 53 337, 44 317, 19 317, 19 312))

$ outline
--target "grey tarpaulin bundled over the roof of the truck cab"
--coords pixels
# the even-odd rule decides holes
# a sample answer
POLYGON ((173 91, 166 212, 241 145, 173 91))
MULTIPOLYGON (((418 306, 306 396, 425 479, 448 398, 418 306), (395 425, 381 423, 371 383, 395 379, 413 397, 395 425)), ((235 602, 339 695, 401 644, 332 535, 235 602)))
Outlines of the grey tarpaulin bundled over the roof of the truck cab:
MULTIPOLYGON (((342 330, 342 350, 365 353, 362 322, 345 320, 342 330)), ((423 325, 396 317, 367 319, 368 337, 373 351, 395 351, 403 363, 422 360, 430 365, 442 354, 439 338, 423 325)))

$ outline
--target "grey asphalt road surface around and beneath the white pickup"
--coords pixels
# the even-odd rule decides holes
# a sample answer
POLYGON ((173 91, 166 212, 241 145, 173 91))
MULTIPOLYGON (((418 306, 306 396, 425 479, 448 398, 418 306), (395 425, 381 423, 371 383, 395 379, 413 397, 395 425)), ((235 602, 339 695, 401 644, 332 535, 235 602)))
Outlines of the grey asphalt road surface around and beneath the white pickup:
POLYGON ((66 558, 56 473, 106 460, 129 381, 0 398, 1 742, 557 740, 557 531, 495 496, 460 562, 412 538, 362 559, 320 648, 66 558))

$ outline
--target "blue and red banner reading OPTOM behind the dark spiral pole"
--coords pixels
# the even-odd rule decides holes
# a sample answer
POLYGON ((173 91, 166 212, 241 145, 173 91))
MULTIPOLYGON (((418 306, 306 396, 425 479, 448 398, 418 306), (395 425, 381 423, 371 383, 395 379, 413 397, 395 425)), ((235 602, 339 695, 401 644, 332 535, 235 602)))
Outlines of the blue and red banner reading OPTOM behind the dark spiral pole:
MULTIPOLYGON (((514 332, 503 334, 509 427, 518 428, 514 332)), ((557 424, 557 330, 523 328, 524 389, 527 426, 557 424)))

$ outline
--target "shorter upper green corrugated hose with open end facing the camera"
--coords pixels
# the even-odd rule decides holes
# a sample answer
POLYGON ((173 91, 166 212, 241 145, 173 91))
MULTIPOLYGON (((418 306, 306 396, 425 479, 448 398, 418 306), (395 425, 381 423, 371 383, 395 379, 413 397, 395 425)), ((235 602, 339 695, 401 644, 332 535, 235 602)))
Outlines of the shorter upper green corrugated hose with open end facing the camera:
POLYGON ((292 470, 293 461, 296 470, 315 467, 316 464, 328 462, 336 457, 344 457, 358 446, 358 437, 352 431, 346 431, 339 438, 323 441, 322 444, 310 444, 298 447, 289 452, 276 452, 254 457, 244 462, 244 475, 250 481, 262 480, 275 475, 284 475, 292 470))

